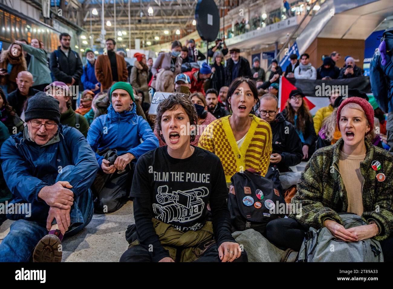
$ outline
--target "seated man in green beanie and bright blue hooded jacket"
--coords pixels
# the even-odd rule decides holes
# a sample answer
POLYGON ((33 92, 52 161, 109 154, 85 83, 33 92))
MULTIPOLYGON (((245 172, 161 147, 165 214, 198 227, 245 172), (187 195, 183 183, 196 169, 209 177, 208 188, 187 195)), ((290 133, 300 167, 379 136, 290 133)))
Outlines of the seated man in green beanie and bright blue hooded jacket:
POLYGON ((101 168, 94 185, 97 213, 115 212, 125 204, 136 161, 158 148, 158 139, 149 123, 136 114, 132 86, 116 82, 110 88, 110 96, 108 113, 97 117, 87 133, 87 142, 96 152, 101 168))

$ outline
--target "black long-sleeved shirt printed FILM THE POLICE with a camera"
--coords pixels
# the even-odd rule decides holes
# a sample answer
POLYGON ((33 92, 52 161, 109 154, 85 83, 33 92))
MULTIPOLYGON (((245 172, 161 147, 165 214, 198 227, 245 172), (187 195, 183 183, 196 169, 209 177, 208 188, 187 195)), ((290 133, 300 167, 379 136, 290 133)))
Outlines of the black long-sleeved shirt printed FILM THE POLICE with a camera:
POLYGON ((217 243, 234 241, 221 161, 207 150, 194 148, 190 157, 175 159, 162 146, 143 154, 136 164, 130 196, 134 197, 138 239, 141 245, 160 247, 153 250, 157 261, 166 255, 151 218, 182 231, 199 230, 206 222, 208 203, 217 243))

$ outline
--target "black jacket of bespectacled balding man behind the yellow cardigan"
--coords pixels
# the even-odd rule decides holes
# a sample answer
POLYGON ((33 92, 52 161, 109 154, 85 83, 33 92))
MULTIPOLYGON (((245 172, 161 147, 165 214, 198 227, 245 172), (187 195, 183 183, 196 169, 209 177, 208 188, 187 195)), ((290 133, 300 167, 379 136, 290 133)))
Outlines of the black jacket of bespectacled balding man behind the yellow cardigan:
POLYGON ((281 113, 277 113, 272 127, 272 153, 281 155, 281 161, 276 164, 278 170, 288 172, 290 166, 298 165, 303 157, 301 140, 295 126, 286 121, 281 113))

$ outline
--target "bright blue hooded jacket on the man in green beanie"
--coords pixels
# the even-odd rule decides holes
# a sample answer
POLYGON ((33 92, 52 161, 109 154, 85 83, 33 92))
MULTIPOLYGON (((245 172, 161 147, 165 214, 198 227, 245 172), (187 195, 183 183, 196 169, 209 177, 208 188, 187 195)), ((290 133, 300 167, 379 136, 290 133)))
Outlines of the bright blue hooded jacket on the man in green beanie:
MULTIPOLYGON (((158 147, 158 139, 149 123, 136 114, 135 105, 130 111, 118 113, 110 104, 107 114, 94 119, 87 133, 87 142, 94 152, 102 152, 106 148, 116 150, 117 155, 129 152, 135 156, 135 162, 145 152, 158 147)), ((101 167, 103 156, 95 153, 95 157, 101 167)))

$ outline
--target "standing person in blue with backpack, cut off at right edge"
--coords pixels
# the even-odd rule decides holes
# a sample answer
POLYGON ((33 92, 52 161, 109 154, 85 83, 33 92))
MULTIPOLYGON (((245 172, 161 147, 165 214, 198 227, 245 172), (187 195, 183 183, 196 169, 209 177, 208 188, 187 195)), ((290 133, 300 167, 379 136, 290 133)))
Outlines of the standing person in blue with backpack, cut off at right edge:
POLYGON ((384 112, 387 112, 387 144, 393 153, 393 28, 386 29, 378 51, 370 64, 371 91, 384 112))

